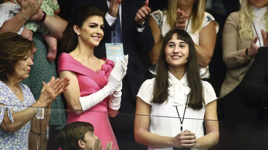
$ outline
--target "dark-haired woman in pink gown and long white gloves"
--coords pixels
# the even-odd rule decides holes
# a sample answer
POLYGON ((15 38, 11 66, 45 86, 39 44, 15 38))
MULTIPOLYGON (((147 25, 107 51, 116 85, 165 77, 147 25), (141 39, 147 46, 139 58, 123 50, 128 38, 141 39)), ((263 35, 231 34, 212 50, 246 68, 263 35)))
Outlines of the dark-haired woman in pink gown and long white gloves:
POLYGON ((72 110, 68 111, 67 124, 90 122, 102 145, 112 141, 118 150, 108 115, 115 117, 120 108, 121 81, 126 74, 128 56, 116 64, 94 56, 94 47, 104 35, 103 17, 104 13, 95 6, 73 11, 63 32, 62 48, 66 53, 59 56, 58 73, 60 77, 71 78, 70 88, 63 93, 68 109, 72 110))

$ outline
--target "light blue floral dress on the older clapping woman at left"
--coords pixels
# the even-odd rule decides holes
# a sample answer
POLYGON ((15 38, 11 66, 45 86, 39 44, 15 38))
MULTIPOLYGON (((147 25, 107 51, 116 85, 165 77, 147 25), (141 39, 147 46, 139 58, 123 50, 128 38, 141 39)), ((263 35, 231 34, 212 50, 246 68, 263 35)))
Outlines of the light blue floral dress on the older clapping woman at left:
MULTIPOLYGON (((26 109, 35 102, 35 98, 29 87, 22 83, 19 83, 19 85, 23 92, 23 102, 21 102, 13 91, 0 80, 0 103, 6 105, 4 108, 0 107, 0 124, 3 121, 5 110, 8 110, 9 119, 14 123, 10 109, 16 113, 26 109)), ((6 132, 0 128, 0 149, 28 150, 30 129, 31 121, 14 133, 6 132)))

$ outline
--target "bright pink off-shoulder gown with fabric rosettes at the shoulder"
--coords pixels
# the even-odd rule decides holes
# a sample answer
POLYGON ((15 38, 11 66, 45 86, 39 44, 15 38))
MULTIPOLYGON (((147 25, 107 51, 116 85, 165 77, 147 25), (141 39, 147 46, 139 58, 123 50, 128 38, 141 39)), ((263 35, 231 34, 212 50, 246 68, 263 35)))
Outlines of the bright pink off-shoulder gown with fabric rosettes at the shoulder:
MULTIPOLYGON (((97 73, 85 67, 68 53, 62 53, 58 60, 58 73, 62 70, 75 72, 81 97, 88 96, 99 91, 107 84, 110 71, 113 69, 113 61, 106 58, 102 58, 102 60, 105 60, 105 64, 102 65, 102 70, 99 70, 99 73, 97 73)), ((94 134, 102 141, 103 149, 105 149, 108 141, 112 141, 113 147, 119 150, 107 113, 108 100, 109 97, 106 97, 102 102, 78 116, 72 111, 68 111, 67 124, 74 121, 89 122, 94 126, 94 134)), ((69 106, 68 109, 70 109, 69 106)))

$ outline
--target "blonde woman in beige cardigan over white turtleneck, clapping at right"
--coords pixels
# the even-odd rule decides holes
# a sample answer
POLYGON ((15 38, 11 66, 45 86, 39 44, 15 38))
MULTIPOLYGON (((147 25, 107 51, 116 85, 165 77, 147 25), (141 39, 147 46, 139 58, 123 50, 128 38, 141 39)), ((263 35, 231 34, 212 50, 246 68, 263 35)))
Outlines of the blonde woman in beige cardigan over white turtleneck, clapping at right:
POLYGON ((254 121, 256 118, 256 111, 245 107, 238 99, 238 87, 258 48, 268 45, 265 33, 268 29, 267 4, 268 0, 243 0, 240 11, 231 13, 226 20, 222 46, 228 71, 219 95, 223 98, 222 111, 226 120, 254 121))

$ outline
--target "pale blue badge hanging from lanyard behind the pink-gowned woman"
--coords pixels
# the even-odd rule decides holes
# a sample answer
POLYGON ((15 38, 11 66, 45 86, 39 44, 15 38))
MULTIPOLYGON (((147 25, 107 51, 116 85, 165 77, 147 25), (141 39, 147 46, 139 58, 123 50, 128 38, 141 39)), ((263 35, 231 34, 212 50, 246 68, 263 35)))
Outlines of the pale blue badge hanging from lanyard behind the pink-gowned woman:
POLYGON ((119 60, 124 60, 123 43, 105 43, 105 48, 107 59, 113 62, 116 61, 116 57, 118 57, 119 60))

